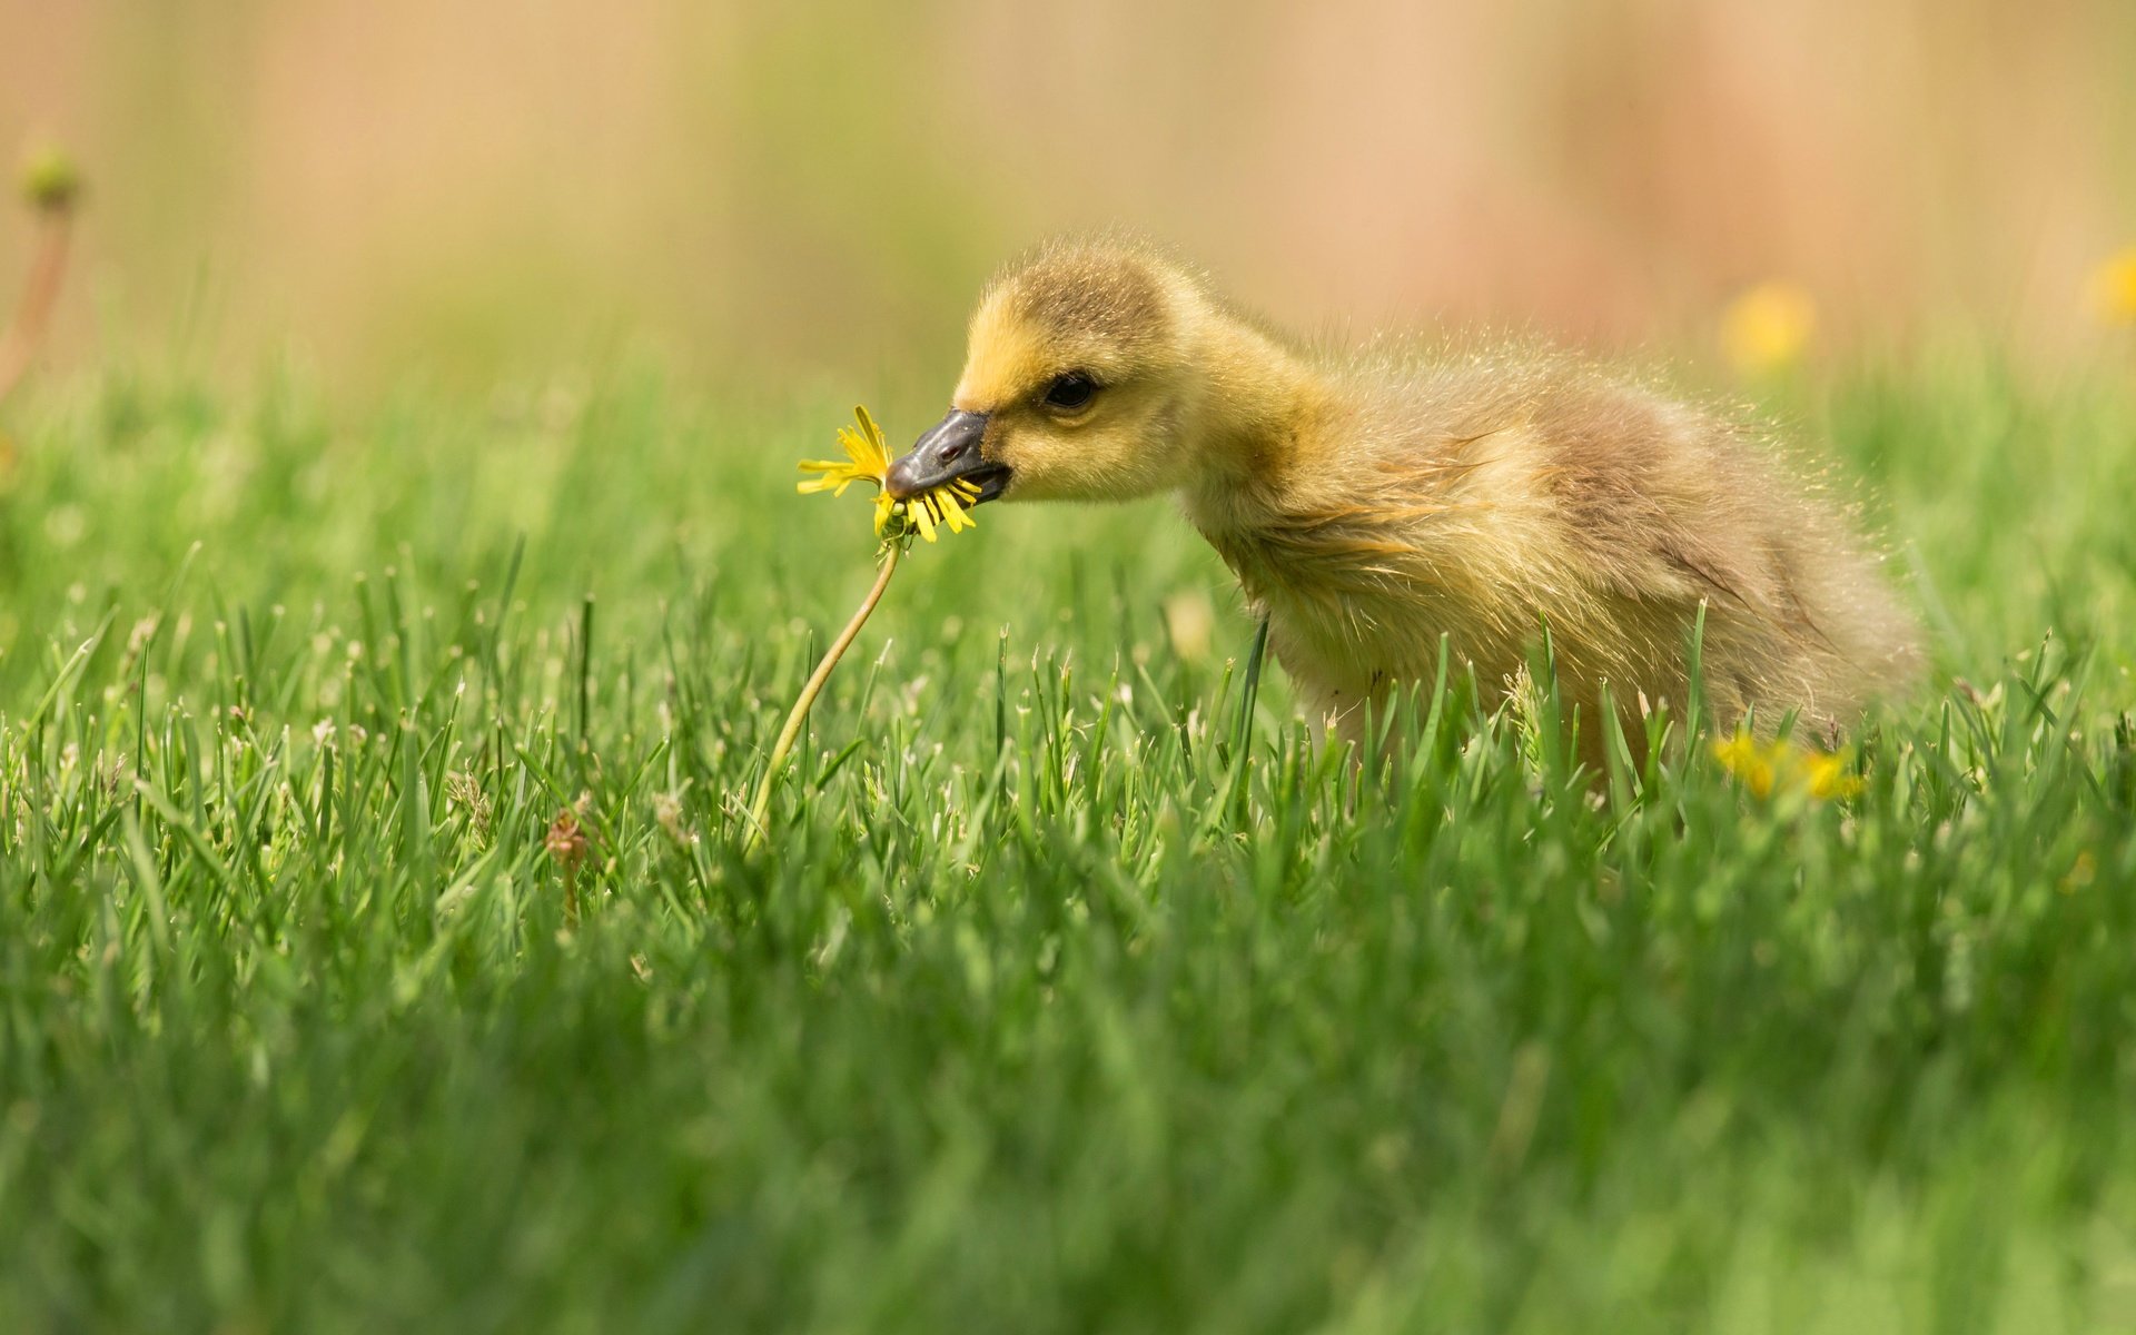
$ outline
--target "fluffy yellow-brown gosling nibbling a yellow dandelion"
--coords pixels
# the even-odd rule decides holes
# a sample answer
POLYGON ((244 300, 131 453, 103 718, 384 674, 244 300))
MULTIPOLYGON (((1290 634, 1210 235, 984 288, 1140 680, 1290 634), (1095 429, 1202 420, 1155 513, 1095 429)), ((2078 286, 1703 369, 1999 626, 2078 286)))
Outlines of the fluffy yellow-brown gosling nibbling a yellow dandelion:
POLYGON ((1589 758, 1604 701, 1681 709, 1700 607, 1724 728, 1792 711, 1837 737, 1918 671, 1880 557, 1741 423, 1564 355, 1309 350, 1138 246, 1053 244, 987 286, 951 412, 889 491, 953 478, 1175 493, 1348 737, 1431 681, 1442 637, 1504 698, 1546 628, 1589 758))

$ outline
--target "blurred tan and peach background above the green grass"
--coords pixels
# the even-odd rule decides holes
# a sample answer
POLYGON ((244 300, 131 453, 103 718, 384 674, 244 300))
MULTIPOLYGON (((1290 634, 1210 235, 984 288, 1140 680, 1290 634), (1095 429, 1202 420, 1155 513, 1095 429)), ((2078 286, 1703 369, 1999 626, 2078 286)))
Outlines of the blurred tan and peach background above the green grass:
POLYGON ((47 141, 60 365, 948 376, 1096 224, 1307 329, 1717 352, 1779 284, 1820 348, 2053 352, 2136 239, 2136 4, 0 0, 0 152, 47 141))

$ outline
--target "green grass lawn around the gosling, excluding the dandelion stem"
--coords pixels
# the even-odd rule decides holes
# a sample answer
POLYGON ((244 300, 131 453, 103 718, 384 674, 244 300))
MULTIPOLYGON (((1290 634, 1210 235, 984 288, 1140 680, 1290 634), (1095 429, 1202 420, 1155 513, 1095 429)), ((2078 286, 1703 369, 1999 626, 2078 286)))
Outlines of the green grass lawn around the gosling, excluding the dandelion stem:
POLYGON ((1459 684, 1241 752, 1175 519, 987 508, 752 865, 842 399, 13 404, 0 1326, 2136 1329, 2136 391, 1781 410, 1937 645, 1856 799, 1459 684))

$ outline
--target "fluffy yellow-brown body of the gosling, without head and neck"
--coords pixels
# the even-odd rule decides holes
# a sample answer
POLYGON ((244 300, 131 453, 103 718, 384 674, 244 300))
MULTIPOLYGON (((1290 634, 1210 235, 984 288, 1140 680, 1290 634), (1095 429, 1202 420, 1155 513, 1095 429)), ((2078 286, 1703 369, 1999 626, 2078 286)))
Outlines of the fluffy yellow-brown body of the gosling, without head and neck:
POLYGON ((1512 690, 1544 628, 1583 718, 1681 705, 1700 607, 1724 724, 1828 733, 1918 671, 1852 517, 1726 414, 1508 350, 1331 367, 1297 431, 1250 504, 1188 511, 1316 711, 1427 677, 1442 634, 1512 690))

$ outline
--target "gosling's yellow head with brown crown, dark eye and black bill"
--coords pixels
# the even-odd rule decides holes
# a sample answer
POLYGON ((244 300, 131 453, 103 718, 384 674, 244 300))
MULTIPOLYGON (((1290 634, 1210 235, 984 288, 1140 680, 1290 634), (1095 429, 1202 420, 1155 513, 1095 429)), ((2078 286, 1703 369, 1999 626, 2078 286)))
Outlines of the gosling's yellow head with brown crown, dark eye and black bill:
POLYGON ((980 297, 951 412, 891 466, 891 493, 972 478, 980 500, 1132 500, 1185 485, 1220 320, 1198 280, 1138 248, 1040 250, 980 297))

